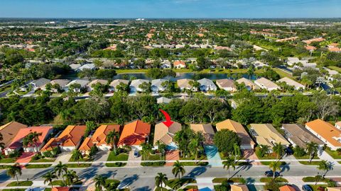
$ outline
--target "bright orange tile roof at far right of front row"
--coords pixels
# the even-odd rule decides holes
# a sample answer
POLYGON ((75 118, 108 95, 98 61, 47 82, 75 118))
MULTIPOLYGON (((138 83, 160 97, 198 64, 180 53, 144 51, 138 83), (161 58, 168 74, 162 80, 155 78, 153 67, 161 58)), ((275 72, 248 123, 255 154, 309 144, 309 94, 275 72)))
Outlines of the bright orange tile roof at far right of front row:
POLYGON ((307 122, 305 126, 312 129, 315 133, 319 134, 320 137, 323 137, 323 139, 327 140, 333 146, 341 146, 341 141, 337 141, 337 139, 341 140, 341 130, 332 126, 329 122, 318 119, 307 122))

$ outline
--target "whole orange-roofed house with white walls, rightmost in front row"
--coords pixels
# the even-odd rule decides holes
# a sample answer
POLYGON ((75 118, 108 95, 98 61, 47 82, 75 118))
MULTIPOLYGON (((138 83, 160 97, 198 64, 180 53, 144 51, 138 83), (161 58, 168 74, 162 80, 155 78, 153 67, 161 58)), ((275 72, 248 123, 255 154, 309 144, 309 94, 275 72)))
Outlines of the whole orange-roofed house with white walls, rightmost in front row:
POLYGON ((332 126, 329 122, 323 120, 313 120, 305 124, 310 132, 312 132, 318 139, 321 139, 331 150, 341 148, 341 130, 332 126))

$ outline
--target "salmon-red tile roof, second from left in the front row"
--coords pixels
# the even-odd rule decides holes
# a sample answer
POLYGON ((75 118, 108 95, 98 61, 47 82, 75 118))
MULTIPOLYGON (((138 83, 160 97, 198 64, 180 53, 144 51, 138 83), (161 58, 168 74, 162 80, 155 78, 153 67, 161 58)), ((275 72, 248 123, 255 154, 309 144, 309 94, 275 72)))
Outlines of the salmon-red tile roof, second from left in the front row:
POLYGON ((53 127, 45 126, 45 127, 28 127, 20 129, 18 134, 16 134, 16 137, 13 138, 11 144, 8 146, 9 149, 18 149, 23 146, 23 138, 26 137, 31 132, 37 132, 41 133, 41 135, 38 137, 38 143, 37 146, 39 147, 44 139, 48 137, 48 134, 50 131, 52 131, 53 127))

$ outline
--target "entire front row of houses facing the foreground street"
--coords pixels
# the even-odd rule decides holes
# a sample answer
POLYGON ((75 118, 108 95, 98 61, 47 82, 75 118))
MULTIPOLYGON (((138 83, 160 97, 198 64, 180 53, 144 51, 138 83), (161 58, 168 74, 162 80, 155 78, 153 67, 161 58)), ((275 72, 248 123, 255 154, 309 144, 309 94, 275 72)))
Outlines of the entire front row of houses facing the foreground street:
MULTIPOLYGON (((57 146, 61 151, 79 149, 82 154, 89 154, 91 147, 94 145, 99 150, 108 151, 112 149, 112 144, 109 144, 106 138, 107 134, 112 131, 120 134, 117 146, 131 146, 134 149, 141 149, 141 144, 149 141, 149 135, 151 134, 151 125, 141 120, 129 122, 123 128, 120 125, 100 125, 88 137, 84 137, 86 129, 85 125, 69 125, 63 132, 51 137, 53 127, 27 127, 18 122, 9 122, 0 127, 0 133, 4 138, 4 153, 6 155, 18 149, 23 149, 24 152, 52 151, 57 146), (23 146, 24 137, 33 132, 38 134, 36 144, 23 146)), ((155 126, 153 145, 157 147, 158 142, 161 142, 166 144, 168 149, 176 149, 177 146, 173 141, 173 137, 181 129, 182 125, 178 122, 173 122, 170 127, 167 127, 163 122, 159 122, 155 126)), ((242 150, 254 149, 256 144, 269 146, 270 149, 274 144, 305 148, 310 141, 318 144, 320 148, 324 145, 334 151, 341 148, 341 122, 337 122, 335 126, 323 120, 313 120, 306 123, 305 126, 283 124, 281 127, 283 135, 271 124, 251 124, 249 128, 250 136, 239 122, 233 120, 218 122, 216 129, 211 124, 191 124, 190 129, 204 135, 205 145, 213 144, 212 140, 217 131, 228 129, 236 132, 242 140, 242 150)))

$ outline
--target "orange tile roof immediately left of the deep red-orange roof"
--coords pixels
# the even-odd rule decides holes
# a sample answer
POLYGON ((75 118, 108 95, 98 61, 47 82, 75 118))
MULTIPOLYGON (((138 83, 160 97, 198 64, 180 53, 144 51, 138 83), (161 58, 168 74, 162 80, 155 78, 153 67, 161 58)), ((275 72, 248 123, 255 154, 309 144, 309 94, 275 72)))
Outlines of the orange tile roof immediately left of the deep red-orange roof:
POLYGON ((99 126, 92 137, 87 137, 80 146, 80 151, 90 151, 91 147, 96 144, 97 146, 107 145, 105 139, 109 132, 119 132, 119 125, 101 125, 99 126))

